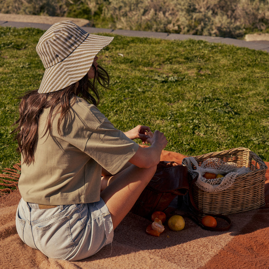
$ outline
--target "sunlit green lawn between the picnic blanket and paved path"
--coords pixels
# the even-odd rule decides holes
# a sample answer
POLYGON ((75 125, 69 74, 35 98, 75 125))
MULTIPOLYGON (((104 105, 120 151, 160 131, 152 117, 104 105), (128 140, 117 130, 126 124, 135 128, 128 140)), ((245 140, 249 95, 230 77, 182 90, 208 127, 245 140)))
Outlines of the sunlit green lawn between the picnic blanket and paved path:
MULTIPOLYGON (((35 46, 42 33, 0 28, 0 169, 20 159, 10 136, 15 97, 39 87, 44 68, 35 46)), ((268 53, 114 36, 98 56, 112 88, 103 91, 99 109, 115 127, 158 129, 167 137, 166 150, 188 156, 247 147, 269 161, 268 53)))

